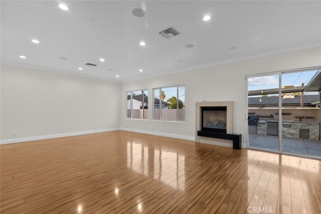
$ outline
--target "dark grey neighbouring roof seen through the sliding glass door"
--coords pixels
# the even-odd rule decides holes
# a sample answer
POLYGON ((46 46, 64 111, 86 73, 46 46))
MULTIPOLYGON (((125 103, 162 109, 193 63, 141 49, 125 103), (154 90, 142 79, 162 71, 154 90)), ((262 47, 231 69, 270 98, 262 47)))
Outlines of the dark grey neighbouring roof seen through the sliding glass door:
MULTIPOLYGON (((277 105, 279 97, 249 97, 248 105, 277 105), (260 101, 261 100, 261 101, 260 101)), ((320 96, 316 95, 304 95, 304 105, 316 105, 320 103, 320 96)), ((283 98, 282 105, 300 105, 301 96, 294 96, 294 98, 283 98)))

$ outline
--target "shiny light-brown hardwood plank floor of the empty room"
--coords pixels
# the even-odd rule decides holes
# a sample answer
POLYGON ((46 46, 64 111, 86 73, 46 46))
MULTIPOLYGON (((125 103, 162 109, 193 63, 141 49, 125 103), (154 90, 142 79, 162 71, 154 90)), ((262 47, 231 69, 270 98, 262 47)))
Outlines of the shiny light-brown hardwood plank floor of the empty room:
POLYGON ((321 213, 321 162, 114 131, 1 145, 1 213, 321 213))

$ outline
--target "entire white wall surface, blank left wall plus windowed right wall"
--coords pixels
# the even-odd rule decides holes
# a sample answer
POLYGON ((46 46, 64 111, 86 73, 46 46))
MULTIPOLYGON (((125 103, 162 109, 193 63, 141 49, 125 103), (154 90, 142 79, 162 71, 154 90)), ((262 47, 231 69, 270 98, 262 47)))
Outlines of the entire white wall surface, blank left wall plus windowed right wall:
POLYGON ((234 132, 244 143, 245 75, 320 66, 320 59, 317 47, 121 84, 1 65, 1 143, 119 127, 194 140, 195 102, 204 100, 234 101, 234 132), (152 88, 176 85, 185 85, 185 122, 153 121, 152 107, 148 120, 126 119, 126 91, 147 88, 151 104, 152 88))

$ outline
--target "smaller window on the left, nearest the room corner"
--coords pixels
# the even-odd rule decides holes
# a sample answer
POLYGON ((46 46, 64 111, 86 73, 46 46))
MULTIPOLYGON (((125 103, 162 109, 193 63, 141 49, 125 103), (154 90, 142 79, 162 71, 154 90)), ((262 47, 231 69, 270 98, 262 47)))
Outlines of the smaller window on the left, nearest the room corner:
POLYGON ((129 91, 127 96, 127 118, 147 119, 148 90, 129 91))

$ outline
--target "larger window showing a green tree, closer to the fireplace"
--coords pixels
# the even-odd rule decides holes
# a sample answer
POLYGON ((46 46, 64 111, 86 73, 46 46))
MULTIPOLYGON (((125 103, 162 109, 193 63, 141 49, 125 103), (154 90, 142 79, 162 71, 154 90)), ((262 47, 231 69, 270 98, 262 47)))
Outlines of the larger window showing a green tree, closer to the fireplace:
POLYGON ((154 120, 185 121, 185 86, 153 89, 154 120))

